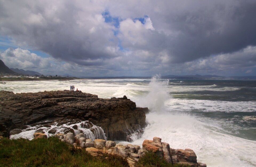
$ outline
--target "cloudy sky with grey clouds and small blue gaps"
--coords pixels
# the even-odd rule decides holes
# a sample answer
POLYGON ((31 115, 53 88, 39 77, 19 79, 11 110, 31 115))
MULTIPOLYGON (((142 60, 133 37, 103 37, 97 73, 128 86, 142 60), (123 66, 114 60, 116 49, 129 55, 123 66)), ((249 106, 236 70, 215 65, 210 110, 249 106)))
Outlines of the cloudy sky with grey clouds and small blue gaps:
POLYGON ((255 0, 0 0, 9 68, 84 77, 256 75, 255 0))

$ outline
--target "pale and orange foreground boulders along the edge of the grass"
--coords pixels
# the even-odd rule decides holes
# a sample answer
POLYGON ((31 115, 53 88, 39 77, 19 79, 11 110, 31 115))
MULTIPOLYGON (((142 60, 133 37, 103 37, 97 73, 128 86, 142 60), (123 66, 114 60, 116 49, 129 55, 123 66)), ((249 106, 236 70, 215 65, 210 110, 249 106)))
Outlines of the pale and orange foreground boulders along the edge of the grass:
MULTIPOLYGON (((66 143, 71 144, 69 140, 65 140, 67 139, 67 137, 65 136, 71 134, 62 134, 64 135, 64 137, 61 137, 62 135, 56 134, 56 137, 66 143)), ((79 138, 79 140, 81 138, 79 138)), ((75 139, 77 140, 77 137, 75 137, 75 139)), ((139 161, 139 158, 141 158, 146 151, 152 151, 159 157, 163 157, 168 163, 171 164, 184 164, 190 165, 191 167, 206 167, 206 164, 197 162, 197 156, 195 155, 195 152, 193 150, 172 149, 170 148, 170 145, 168 143, 161 142, 161 140, 162 139, 159 137, 154 137, 153 140, 144 140, 141 148, 138 145, 121 145, 116 144, 114 141, 110 140, 106 141, 102 139, 95 139, 92 145, 88 145, 85 147, 80 145, 79 148, 85 148, 86 151, 93 156, 102 156, 103 153, 121 156, 123 158, 126 158, 130 166, 135 166, 136 163, 139 161)), ((73 143, 73 145, 76 144, 77 142, 73 143)))

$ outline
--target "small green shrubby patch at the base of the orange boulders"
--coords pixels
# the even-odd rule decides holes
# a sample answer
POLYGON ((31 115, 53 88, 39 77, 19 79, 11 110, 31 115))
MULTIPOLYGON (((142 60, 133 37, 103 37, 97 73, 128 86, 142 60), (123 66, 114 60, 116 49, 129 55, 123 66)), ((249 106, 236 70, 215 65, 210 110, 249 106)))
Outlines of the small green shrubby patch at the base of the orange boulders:
POLYGON ((151 167, 189 167, 189 165, 171 164, 166 162, 163 158, 155 155, 152 151, 145 152, 136 165, 137 167, 151 166, 151 167))

